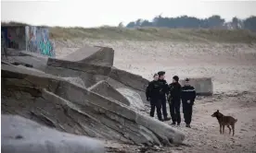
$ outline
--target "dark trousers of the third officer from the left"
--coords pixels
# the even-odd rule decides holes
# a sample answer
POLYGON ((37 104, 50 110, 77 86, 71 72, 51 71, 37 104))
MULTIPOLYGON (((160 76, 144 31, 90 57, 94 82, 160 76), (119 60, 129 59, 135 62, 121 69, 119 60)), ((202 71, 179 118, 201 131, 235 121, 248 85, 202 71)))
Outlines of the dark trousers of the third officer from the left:
POLYGON ((171 100, 170 102, 170 113, 173 123, 181 123, 181 100, 171 100))

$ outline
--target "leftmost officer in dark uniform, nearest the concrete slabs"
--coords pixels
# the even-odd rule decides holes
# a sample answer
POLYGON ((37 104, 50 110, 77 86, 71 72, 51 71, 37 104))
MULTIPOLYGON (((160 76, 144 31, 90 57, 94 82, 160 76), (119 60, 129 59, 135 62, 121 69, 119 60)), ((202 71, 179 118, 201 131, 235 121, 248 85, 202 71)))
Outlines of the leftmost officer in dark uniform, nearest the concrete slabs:
POLYGON ((150 116, 154 117, 155 108, 157 108, 158 118, 162 121, 161 118, 161 103, 160 103, 160 83, 159 83, 159 75, 154 75, 154 80, 149 82, 147 89, 146 89, 146 97, 147 101, 150 101, 151 110, 150 116))

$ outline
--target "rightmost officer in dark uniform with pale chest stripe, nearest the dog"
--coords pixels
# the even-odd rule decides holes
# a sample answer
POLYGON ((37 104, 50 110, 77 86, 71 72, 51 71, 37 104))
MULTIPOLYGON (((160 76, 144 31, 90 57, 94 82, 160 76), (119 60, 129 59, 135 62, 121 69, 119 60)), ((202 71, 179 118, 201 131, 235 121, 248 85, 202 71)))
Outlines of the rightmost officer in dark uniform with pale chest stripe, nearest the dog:
POLYGON ((182 88, 182 106, 186 127, 191 128, 192 111, 196 99, 196 90, 189 85, 189 79, 186 78, 185 86, 182 88))

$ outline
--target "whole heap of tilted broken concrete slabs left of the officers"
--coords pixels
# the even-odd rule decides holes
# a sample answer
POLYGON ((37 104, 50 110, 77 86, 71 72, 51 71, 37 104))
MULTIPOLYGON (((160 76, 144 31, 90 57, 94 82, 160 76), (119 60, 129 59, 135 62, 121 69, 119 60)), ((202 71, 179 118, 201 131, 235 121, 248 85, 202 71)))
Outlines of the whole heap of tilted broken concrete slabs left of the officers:
POLYGON ((2 57, 2 114, 130 144, 168 146, 185 139, 172 126, 140 112, 148 80, 115 68, 111 48, 85 46, 63 59, 9 54, 14 55, 2 57))

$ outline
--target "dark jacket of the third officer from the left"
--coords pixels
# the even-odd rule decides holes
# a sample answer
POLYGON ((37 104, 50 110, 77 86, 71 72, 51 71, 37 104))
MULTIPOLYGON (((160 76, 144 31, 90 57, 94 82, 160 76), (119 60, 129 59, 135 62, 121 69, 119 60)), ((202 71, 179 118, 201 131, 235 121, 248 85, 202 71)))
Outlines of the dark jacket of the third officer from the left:
POLYGON ((178 82, 169 85, 169 99, 181 100, 181 85, 178 82))

